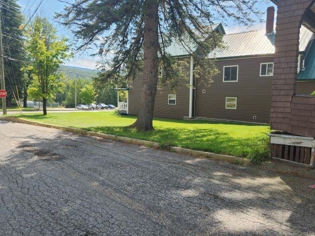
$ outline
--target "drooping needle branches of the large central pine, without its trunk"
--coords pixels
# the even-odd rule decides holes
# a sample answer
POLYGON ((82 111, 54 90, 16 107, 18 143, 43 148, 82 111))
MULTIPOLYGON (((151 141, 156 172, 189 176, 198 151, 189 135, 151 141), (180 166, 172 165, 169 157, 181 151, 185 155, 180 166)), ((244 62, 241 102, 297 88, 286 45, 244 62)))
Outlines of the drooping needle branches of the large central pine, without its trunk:
MULTIPOLYGON (((187 76, 177 70, 177 62, 166 48, 176 40, 186 48, 185 54, 192 54, 197 61, 204 60, 209 51, 222 47, 221 35, 212 29, 214 21, 232 18, 250 26, 252 17, 260 19, 261 16, 256 3, 256 0, 118 0, 115 3, 75 0, 57 18, 79 39, 78 49, 96 44, 98 55, 107 58, 100 64, 102 75, 98 81, 111 81, 120 87, 138 76, 144 70, 143 44, 147 35, 157 40, 158 63, 164 71, 160 82, 174 87, 187 76), (146 15, 152 5, 157 6, 158 27, 145 34, 145 29, 153 28, 152 25, 145 27, 146 19, 150 17, 153 21, 156 16, 146 15), (154 34, 156 30, 159 39, 154 34)), ((217 72, 212 61, 205 67, 211 72, 210 77, 217 72)))

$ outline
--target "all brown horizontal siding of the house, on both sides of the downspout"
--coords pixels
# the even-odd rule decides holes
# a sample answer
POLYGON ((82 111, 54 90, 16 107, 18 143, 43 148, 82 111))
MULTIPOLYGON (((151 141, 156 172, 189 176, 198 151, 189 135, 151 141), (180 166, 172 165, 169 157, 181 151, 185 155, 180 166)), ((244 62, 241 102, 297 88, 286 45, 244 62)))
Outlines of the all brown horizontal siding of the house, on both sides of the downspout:
MULTIPOLYGON (((204 76, 196 80, 194 92, 194 116, 269 123, 272 93, 272 77, 260 77, 260 63, 273 62, 273 57, 229 59, 217 61, 220 74, 213 78, 211 86, 205 86, 204 76), (222 82, 223 66, 239 65, 238 82, 222 82), (202 93, 205 89, 206 93, 202 93), (237 109, 225 109, 225 97, 237 97, 237 109), (256 119, 252 119, 256 116, 256 119)), ((188 69, 188 68, 187 68, 188 69)), ((189 77, 189 76, 188 76, 189 77)), ((176 105, 168 105, 168 94, 174 92, 165 86, 158 90, 154 116, 159 118, 179 118, 189 116, 189 78, 181 81, 176 90, 176 105)), ((137 115, 140 106, 142 78, 137 78, 129 91, 129 114, 137 115)), ((315 82, 298 82, 297 94, 315 91, 315 82)))

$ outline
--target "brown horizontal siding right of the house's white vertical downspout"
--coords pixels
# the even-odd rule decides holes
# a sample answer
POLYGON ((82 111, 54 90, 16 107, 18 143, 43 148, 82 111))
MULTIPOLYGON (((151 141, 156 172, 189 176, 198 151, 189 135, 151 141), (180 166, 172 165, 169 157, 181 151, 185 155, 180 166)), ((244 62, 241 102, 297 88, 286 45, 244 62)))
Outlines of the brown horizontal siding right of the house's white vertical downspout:
POLYGON ((264 62, 273 62, 273 57, 218 60, 220 74, 213 78, 211 86, 200 84, 196 88, 195 116, 269 123, 272 76, 259 76, 260 63, 264 62), (223 82, 223 66, 228 65, 239 66, 238 82, 223 82), (237 97, 236 110, 225 109, 225 97, 237 97))

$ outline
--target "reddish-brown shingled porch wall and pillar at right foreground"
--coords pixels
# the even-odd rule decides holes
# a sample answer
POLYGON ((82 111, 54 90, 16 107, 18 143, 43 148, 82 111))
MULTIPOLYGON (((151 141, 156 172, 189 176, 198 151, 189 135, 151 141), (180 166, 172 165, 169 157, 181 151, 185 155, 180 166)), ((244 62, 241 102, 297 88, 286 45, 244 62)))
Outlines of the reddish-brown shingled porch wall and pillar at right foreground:
POLYGON ((270 114, 272 129, 309 137, 315 137, 315 97, 297 95, 296 79, 300 28, 313 2, 278 0, 270 114))

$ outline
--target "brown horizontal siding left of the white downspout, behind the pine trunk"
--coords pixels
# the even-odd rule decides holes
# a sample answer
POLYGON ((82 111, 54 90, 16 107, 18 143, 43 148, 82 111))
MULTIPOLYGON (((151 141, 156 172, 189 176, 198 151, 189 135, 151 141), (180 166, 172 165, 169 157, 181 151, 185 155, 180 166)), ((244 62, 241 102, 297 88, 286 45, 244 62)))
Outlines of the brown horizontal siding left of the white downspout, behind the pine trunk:
MULTIPOLYGON (((187 59, 187 58, 186 58, 187 59)), ((189 71, 189 64, 187 68, 189 71)), ((167 85, 158 89, 154 117, 183 119, 189 116, 189 74, 187 80, 179 81, 179 86, 174 88, 175 92, 167 85), (168 94, 176 94, 176 105, 168 104, 168 94)), ((135 79, 129 84, 131 87, 128 92, 128 112, 130 115, 138 115, 140 106, 140 95, 143 86, 142 77, 135 79)))

